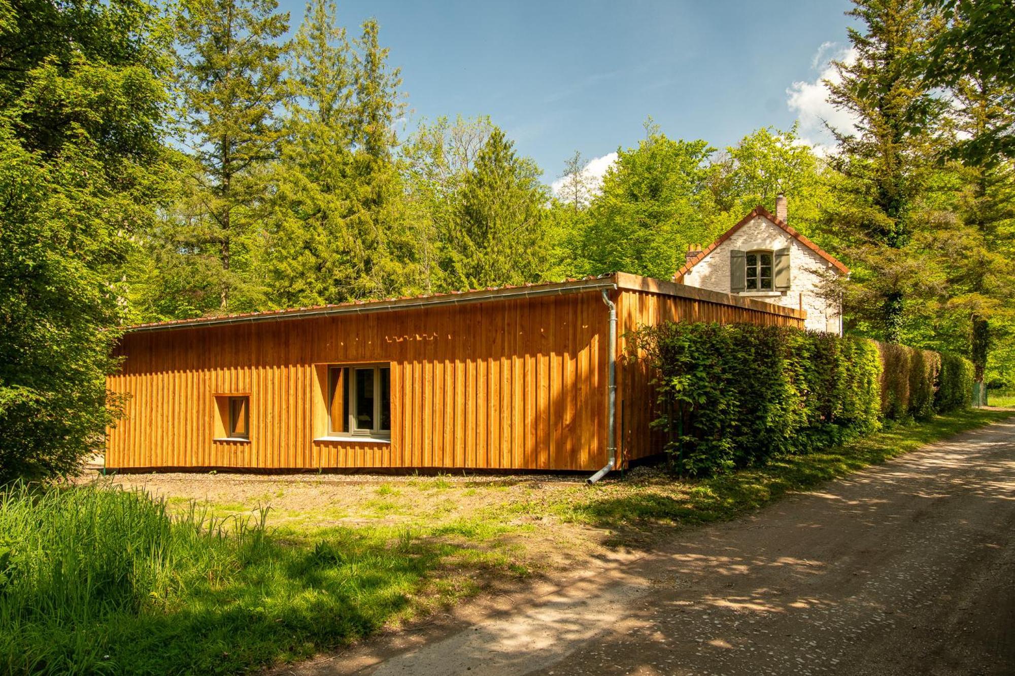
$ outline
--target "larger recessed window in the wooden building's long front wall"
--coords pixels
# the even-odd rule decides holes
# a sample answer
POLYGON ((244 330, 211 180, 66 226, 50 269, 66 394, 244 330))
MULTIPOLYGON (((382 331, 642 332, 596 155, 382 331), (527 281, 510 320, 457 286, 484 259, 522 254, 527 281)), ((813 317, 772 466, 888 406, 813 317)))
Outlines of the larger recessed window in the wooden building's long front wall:
POLYGON ((380 364, 328 368, 328 433, 391 435, 391 367, 380 364))

